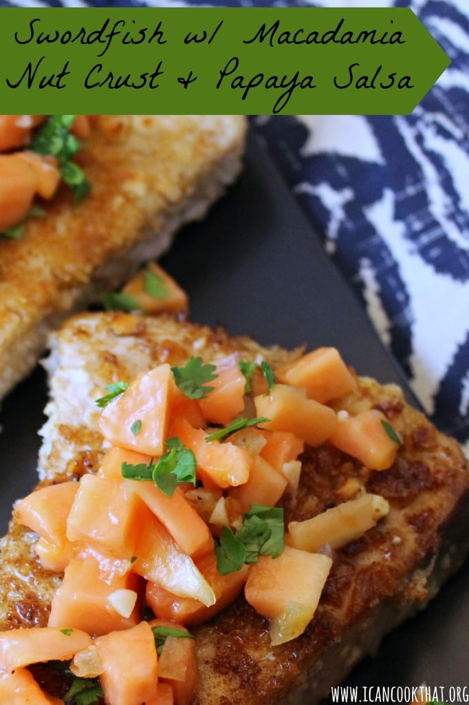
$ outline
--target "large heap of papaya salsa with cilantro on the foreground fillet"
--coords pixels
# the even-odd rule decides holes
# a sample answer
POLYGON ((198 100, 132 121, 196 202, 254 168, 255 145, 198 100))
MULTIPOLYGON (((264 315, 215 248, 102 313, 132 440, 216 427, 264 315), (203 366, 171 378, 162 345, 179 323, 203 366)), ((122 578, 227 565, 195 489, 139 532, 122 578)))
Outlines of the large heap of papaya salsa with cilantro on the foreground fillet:
POLYGON ((332 443, 374 470, 394 462, 400 439, 380 411, 341 410, 355 388, 337 350, 319 348, 275 370, 237 353, 191 357, 103 390, 96 474, 15 506, 43 567, 63 580, 46 627, 0 633, 0 701, 190 705, 188 627, 242 591, 273 646, 301 635, 334 549, 389 511, 363 491, 285 527, 278 506, 298 489, 305 443, 332 443), (34 677, 44 662, 68 674, 61 698, 34 677))

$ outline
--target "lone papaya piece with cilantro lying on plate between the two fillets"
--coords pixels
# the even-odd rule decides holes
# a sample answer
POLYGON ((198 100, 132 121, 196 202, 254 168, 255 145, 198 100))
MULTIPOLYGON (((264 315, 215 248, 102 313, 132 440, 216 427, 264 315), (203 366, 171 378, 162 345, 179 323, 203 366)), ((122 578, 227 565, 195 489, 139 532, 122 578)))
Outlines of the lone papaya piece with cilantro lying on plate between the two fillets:
POLYGON ((180 313, 188 308, 187 294, 167 271, 156 262, 149 262, 123 288, 139 309, 147 314, 180 313))

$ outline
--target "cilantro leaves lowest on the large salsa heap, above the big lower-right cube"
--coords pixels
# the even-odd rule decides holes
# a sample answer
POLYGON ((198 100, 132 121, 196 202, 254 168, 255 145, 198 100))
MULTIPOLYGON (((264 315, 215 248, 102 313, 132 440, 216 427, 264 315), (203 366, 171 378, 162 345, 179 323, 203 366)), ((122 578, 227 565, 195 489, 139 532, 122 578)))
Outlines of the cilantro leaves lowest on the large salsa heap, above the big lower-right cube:
POLYGON ((252 505, 236 532, 223 527, 215 543, 218 572, 227 575, 240 570, 244 563, 257 563, 259 556, 277 558, 283 550, 283 509, 252 505))

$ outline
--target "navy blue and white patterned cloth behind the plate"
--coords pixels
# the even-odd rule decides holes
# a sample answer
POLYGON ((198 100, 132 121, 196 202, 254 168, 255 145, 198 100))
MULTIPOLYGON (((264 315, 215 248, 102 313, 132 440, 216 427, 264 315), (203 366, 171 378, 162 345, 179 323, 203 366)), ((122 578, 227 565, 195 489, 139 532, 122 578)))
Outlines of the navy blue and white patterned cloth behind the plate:
MULTIPOLYGON (((6 4, 0 0, 0 6, 6 4)), ((80 0, 49 4, 82 5, 80 0)), ((428 414, 469 453, 469 3, 225 0, 223 5, 410 6, 449 55, 451 65, 410 116, 251 120, 428 414)))

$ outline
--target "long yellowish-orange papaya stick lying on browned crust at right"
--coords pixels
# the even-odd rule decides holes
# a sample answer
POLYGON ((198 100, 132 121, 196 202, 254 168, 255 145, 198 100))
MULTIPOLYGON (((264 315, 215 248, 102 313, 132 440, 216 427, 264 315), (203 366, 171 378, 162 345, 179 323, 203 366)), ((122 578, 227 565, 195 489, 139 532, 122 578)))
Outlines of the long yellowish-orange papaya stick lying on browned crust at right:
POLYGON ((389 503, 378 494, 363 494, 357 499, 327 509, 311 519, 290 522, 285 543, 302 551, 318 551, 326 544, 342 548, 359 539, 389 512, 389 503))

